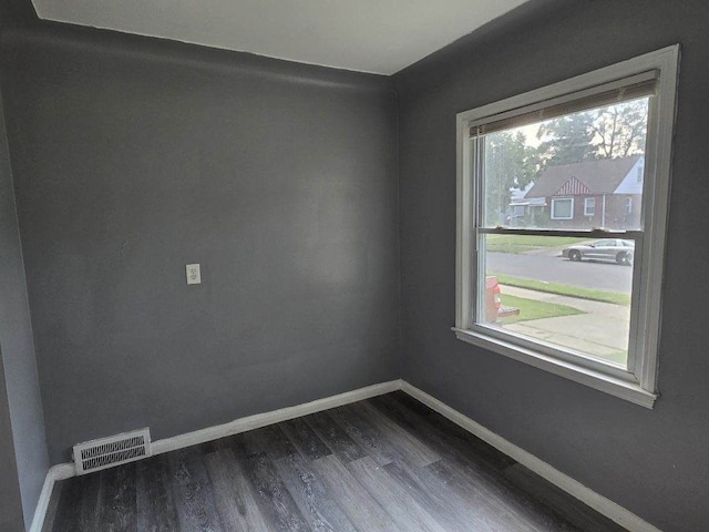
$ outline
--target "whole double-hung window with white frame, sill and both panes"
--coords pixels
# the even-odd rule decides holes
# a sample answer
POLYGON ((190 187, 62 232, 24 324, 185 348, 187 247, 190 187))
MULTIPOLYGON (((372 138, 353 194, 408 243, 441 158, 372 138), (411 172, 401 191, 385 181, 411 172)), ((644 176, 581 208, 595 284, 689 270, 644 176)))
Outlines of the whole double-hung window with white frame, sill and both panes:
POLYGON ((678 60, 670 47, 458 115, 459 339, 653 407, 678 60), (616 191, 638 161, 628 218, 616 191), (528 213, 503 225, 520 190, 528 213))

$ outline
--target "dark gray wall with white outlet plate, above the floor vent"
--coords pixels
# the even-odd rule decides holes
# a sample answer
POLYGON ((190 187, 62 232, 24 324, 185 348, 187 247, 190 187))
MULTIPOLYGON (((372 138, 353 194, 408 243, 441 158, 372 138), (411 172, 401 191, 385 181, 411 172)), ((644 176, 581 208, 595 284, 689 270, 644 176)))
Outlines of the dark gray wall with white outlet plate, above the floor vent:
POLYGON ((389 79, 58 25, 6 45, 52 463, 399 377, 389 79))

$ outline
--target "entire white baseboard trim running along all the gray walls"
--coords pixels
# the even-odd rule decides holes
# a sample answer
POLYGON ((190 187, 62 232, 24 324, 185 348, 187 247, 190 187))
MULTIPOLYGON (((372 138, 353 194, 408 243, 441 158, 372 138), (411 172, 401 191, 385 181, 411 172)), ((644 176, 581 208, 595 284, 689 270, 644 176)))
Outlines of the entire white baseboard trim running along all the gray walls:
MULTIPOLYGON (((559 470, 553 468, 545 461, 540 460, 534 454, 525 451, 524 449, 521 449, 514 443, 505 440, 503 437, 492 432, 482 424, 462 415, 458 410, 452 409, 442 401, 439 401, 434 397, 415 388, 414 386, 411 386, 409 382, 405 382, 403 380, 391 380, 389 382, 368 386, 366 388, 360 388, 358 390, 348 391, 346 393, 340 393, 337 396, 326 397, 323 399, 306 402, 304 405, 281 408, 279 410, 274 410, 265 413, 257 413, 255 416, 240 418, 225 424, 208 427, 206 429, 195 430, 194 432, 187 432, 185 434, 179 434, 172 438, 155 440, 152 443, 152 452, 153 454, 161 454, 163 452, 205 443, 207 441, 225 438, 227 436, 238 434, 240 432, 246 432, 247 430, 258 429, 268 424, 287 421, 289 419, 299 418, 309 413, 316 413, 330 408, 349 405, 351 402, 361 401, 395 390, 403 390, 414 399, 421 401, 429 408, 446 417, 455 424, 467 430, 499 451, 505 453, 510 458, 525 466, 527 469, 534 471, 540 477, 548 480, 554 485, 558 487, 559 489, 575 497, 588 507, 593 508, 598 513, 607 516, 621 526, 625 526, 630 532, 661 532, 659 529, 653 526, 650 523, 644 521, 619 504, 616 504, 612 500, 606 499, 605 497, 596 493, 589 488, 586 488, 580 482, 572 479, 565 473, 562 473, 559 470)), ((52 467, 49 470, 49 472, 47 473, 47 479, 44 480, 44 485, 42 487, 40 500, 37 504, 37 510, 34 512, 34 519, 32 520, 30 532, 41 532, 42 530, 54 482, 69 479, 71 477, 74 477, 75 474, 76 470, 73 463, 61 463, 59 466, 52 467)))

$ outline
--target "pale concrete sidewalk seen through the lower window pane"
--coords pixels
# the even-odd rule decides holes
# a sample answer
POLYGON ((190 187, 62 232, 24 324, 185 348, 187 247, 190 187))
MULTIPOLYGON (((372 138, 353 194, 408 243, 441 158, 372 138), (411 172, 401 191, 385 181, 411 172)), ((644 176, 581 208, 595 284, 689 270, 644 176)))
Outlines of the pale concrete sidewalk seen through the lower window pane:
POLYGON ((625 362, 625 354, 628 349, 629 307, 505 285, 501 285, 501 289, 503 298, 508 294, 537 301, 566 305, 587 313, 503 325, 505 330, 577 349, 615 362, 625 362))

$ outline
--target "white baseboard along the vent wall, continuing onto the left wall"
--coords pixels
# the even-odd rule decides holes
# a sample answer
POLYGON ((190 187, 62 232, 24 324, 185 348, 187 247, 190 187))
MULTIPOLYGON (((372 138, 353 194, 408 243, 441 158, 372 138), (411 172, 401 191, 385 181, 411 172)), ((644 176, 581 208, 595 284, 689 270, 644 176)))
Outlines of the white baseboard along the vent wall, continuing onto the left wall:
MULTIPOLYGON (((320 412, 322 410, 328 410, 329 408, 341 407, 343 405, 362 401, 371 397, 382 396, 391 391, 400 390, 401 386, 401 380, 390 380, 388 382, 359 388, 357 390, 326 397, 323 399, 297 405, 295 407, 281 408, 270 412, 248 416, 216 427, 208 427, 206 429, 195 430, 194 432, 187 432, 185 434, 165 438, 163 440, 155 440, 153 441, 151 449, 153 454, 184 449, 185 447, 205 443, 227 436, 246 432, 247 430, 259 429, 268 424, 300 418, 301 416, 307 416, 309 413, 320 412)), ((42 531, 54 482, 75 477, 75 474, 76 468, 72 462, 60 463, 49 470, 47 478, 44 479, 44 484, 42 485, 42 492, 40 493, 37 509, 34 510, 34 518, 32 519, 30 532, 42 531)))

